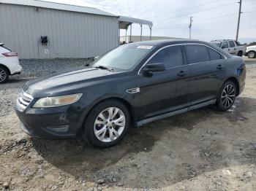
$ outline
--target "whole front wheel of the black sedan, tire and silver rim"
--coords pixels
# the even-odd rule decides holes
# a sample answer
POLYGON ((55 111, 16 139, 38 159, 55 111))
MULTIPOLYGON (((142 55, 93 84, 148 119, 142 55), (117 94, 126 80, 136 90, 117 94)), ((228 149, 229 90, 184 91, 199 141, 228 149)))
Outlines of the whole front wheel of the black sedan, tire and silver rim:
POLYGON ((121 101, 103 101, 86 117, 83 136, 95 147, 113 147, 127 133, 129 119, 129 110, 121 101))

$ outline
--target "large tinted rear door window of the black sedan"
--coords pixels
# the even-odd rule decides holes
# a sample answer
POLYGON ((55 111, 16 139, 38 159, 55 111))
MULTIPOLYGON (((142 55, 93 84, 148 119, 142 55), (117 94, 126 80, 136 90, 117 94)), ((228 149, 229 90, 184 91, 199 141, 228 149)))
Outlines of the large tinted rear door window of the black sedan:
POLYGON ((187 45, 189 63, 200 63, 210 61, 208 50, 203 45, 187 45))

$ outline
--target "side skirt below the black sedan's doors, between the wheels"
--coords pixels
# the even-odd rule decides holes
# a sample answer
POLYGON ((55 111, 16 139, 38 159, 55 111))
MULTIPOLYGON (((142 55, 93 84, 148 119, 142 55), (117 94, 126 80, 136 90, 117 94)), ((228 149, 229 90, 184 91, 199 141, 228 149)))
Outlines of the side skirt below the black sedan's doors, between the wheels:
POLYGON ((188 112, 188 111, 191 111, 193 109, 198 109, 198 108, 201 108, 203 106, 208 106, 208 105, 211 105, 211 104, 215 104, 215 102, 216 102, 216 99, 210 100, 210 101, 206 101, 206 102, 203 102, 201 104, 197 104, 195 106, 189 106, 188 108, 185 108, 185 109, 179 109, 179 110, 176 110, 174 112, 160 114, 160 115, 157 115, 155 117, 150 117, 150 118, 148 118, 146 120, 140 120, 140 121, 137 122, 137 126, 139 127, 139 126, 145 125, 148 122, 153 122, 155 120, 162 120, 162 119, 164 119, 166 117, 171 117, 173 115, 182 114, 184 112, 188 112))

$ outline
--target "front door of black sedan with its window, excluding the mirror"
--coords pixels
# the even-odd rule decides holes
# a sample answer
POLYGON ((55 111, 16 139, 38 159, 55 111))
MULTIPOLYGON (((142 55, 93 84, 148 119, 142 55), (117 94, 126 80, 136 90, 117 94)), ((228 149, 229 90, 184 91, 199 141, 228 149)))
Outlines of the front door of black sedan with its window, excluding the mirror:
POLYGON ((146 63, 165 63, 166 70, 151 76, 140 74, 140 109, 144 119, 188 106, 190 66, 184 65, 183 54, 181 45, 164 47, 146 63))

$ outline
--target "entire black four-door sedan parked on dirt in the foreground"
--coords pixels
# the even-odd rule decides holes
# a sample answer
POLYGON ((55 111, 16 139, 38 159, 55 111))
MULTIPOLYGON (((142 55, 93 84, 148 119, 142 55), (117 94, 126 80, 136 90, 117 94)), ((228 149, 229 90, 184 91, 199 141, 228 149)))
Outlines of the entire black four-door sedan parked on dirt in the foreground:
POLYGON ((82 133, 96 147, 111 147, 129 127, 211 104, 230 109, 245 77, 242 58, 207 42, 136 42, 116 47, 90 68, 27 82, 16 112, 31 136, 82 133))

